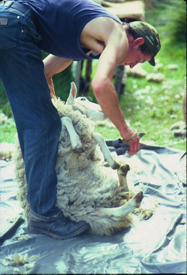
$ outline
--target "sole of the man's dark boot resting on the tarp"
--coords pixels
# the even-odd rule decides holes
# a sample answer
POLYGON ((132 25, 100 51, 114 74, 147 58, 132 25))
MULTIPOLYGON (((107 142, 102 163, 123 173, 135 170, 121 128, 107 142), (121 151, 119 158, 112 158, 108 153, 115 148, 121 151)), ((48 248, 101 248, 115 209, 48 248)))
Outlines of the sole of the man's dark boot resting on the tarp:
POLYGON ((51 236, 53 239, 57 239, 57 240, 67 240, 67 239, 76 237, 76 236, 82 234, 83 232, 87 231, 88 229, 90 229, 90 227, 88 227, 88 225, 85 224, 80 229, 76 230, 75 232, 73 232, 71 234, 64 235, 64 236, 59 236, 59 235, 51 233, 49 231, 29 226, 29 232, 30 233, 33 233, 33 234, 46 234, 46 235, 51 236))

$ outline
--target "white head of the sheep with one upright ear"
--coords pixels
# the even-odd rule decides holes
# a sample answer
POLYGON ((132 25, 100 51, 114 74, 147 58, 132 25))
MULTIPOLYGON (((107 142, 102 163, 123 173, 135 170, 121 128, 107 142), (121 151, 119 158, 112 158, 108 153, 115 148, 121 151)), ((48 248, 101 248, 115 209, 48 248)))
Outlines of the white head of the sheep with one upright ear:
POLYGON ((66 105, 72 105, 73 110, 78 110, 82 114, 85 114, 86 117, 90 118, 93 121, 105 120, 106 116, 103 113, 99 104, 90 102, 85 97, 77 97, 77 88, 74 82, 71 82, 71 90, 69 97, 66 101, 66 105))

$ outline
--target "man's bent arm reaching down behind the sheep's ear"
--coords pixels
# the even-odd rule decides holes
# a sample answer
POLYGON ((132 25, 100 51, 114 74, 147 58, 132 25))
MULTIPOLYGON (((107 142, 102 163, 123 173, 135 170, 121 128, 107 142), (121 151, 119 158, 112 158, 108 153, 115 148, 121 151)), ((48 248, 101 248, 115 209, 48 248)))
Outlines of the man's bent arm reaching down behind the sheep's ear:
POLYGON ((44 60, 44 71, 47 79, 47 84, 50 89, 50 94, 56 100, 55 89, 53 86, 52 76, 65 70, 71 63, 71 59, 64 59, 58 56, 49 54, 44 60))

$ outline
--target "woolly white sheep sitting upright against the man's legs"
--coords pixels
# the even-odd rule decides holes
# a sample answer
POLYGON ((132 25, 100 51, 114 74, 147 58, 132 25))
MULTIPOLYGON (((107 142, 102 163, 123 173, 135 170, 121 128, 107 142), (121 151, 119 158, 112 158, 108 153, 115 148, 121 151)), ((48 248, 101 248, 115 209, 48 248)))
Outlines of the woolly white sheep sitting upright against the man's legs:
MULTIPOLYGON (((52 99, 62 124, 56 163, 56 206, 72 221, 90 224, 90 233, 111 235, 132 225, 130 213, 140 207, 143 193, 134 196, 129 191, 126 179, 129 165, 116 161, 102 135, 94 133, 95 122, 106 118, 101 107, 85 97, 76 98, 76 94, 72 82, 66 104, 59 98, 52 99), (103 164, 104 161, 108 164, 103 164)), ((29 220, 27 183, 18 139, 13 160, 18 199, 29 220)))

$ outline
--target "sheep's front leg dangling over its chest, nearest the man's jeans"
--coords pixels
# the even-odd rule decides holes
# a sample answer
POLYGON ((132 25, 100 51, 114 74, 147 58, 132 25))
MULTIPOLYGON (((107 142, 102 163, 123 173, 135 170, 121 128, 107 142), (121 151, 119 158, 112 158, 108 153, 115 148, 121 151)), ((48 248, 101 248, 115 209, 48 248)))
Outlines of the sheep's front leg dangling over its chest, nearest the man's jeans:
POLYGON ((73 123, 69 117, 62 117, 61 123, 64 125, 69 133, 72 149, 75 153, 83 152, 82 143, 78 137, 78 134, 75 132, 73 123))

